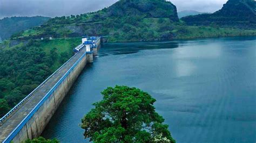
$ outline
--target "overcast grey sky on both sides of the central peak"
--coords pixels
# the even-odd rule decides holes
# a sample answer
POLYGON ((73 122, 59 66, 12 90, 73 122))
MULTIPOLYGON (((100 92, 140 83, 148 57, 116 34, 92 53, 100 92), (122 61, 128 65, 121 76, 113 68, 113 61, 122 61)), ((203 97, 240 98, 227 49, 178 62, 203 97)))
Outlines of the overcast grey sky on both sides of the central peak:
MULTIPOLYGON (((96 11, 118 0, 0 0, 0 19, 11 16, 69 16, 96 11)), ((171 0, 178 11, 214 12, 227 0, 171 0)))

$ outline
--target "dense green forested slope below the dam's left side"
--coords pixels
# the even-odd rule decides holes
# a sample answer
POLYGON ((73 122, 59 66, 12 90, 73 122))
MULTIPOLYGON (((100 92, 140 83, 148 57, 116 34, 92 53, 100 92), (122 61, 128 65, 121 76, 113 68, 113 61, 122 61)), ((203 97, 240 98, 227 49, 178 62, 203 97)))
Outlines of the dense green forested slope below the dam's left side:
POLYGON ((80 38, 29 40, 15 48, 8 43, 0 48, 1 117, 71 58, 80 38))

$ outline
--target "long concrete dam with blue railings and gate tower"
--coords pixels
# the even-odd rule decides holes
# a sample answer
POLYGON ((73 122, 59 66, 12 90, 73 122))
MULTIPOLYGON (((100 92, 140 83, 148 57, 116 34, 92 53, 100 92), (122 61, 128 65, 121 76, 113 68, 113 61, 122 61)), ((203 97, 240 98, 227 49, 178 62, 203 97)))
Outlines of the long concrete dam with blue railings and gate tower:
POLYGON ((43 132, 86 63, 93 62, 100 37, 83 37, 72 56, 0 119, 0 142, 22 142, 43 132))

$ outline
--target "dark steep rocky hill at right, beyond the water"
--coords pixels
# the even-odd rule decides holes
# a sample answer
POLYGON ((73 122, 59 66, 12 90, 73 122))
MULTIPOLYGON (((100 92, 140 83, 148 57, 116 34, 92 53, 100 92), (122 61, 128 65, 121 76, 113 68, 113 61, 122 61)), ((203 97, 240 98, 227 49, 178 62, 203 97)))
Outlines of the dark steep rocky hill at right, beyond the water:
POLYGON ((223 8, 212 14, 181 18, 188 25, 220 25, 246 29, 256 28, 256 2, 254 0, 229 0, 223 8))

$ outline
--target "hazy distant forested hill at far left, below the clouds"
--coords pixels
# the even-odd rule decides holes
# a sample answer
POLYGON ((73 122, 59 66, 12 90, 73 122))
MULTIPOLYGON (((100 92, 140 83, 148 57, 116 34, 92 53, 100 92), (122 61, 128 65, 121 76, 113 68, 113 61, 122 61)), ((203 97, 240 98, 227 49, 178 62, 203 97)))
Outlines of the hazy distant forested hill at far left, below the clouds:
POLYGON ((14 33, 39 26, 49 20, 49 17, 11 17, 0 20, 0 39, 8 39, 14 33))

